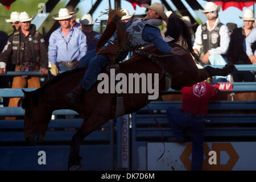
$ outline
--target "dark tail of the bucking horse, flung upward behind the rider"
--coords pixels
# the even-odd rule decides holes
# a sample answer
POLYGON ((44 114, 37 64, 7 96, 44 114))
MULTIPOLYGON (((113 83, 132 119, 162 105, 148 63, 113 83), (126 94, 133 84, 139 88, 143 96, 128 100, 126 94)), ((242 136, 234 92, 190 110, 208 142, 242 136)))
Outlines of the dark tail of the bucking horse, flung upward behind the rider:
POLYGON ((180 18, 176 12, 173 12, 169 18, 167 23, 167 31, 165 36, 171 36, 174 38, 173 42, 180 41, 181 46, 187 49, 193 57, 195 57, 196 61, 199 64, 204 65, 204 63, 200 60, 200 57, 196 55, 193 51, 192 40, 191 40, 191 32, 188 30, 187 25, 184 23, 183 19, 180 18))

